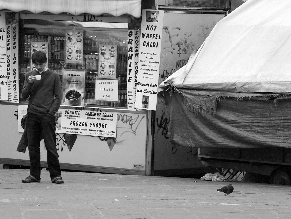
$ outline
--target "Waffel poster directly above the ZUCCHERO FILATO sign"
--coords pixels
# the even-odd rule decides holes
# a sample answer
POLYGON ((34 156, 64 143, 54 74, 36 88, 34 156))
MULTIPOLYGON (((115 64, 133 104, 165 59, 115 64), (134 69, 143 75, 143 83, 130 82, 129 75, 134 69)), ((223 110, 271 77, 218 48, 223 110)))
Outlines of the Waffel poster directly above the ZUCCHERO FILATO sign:
POLYGON ((98 78, 116 79, 116 45, 99 46, 98 78))

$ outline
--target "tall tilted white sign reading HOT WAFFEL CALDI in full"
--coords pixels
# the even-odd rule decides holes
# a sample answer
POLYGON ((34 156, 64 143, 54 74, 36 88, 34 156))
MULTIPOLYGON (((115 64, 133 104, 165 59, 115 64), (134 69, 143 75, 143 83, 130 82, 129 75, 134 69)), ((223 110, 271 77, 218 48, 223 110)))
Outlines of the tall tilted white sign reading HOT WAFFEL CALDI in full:
POLYGON ((164 11, 143 9, 135 108, 156 110, 164 11))

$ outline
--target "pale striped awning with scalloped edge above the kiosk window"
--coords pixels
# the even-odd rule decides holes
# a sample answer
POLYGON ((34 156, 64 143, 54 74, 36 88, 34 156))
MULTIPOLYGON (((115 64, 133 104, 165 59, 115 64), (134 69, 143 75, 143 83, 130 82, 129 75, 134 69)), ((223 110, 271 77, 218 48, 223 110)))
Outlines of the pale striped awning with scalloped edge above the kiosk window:
POLYGON ((140 17, 141 0, 0 0, 0 10, 140 17))

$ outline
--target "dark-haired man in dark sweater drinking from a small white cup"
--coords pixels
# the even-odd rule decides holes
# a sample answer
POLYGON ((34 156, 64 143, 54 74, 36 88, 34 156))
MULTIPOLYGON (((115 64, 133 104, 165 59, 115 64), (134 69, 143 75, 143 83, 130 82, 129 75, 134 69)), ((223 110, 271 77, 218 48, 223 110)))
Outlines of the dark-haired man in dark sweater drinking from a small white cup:
POLYGON ((40 182, 40 139, 43 137, 52 183, 64 183, 56 149, 54 117, 61 105, 61 80, 56 72, 45 67, 47 56, 44 52, 34 52, 31 61, 36 68, 26 73, 22 89, 23 98, 35 95, 32 102, 29 101, 26 116, 30 175, 21 181, 24 183, 40 182), (38 89, 40 83, 43 84, 38 89))

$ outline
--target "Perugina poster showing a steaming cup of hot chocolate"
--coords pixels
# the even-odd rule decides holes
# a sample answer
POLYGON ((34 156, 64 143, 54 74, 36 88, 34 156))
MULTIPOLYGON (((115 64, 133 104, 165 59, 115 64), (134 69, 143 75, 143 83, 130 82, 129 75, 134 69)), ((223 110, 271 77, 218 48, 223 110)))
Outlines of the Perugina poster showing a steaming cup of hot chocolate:
POLYGON ((84 106, 85 72, 63 72, 62 105, 84 106))

